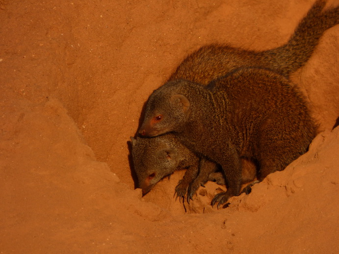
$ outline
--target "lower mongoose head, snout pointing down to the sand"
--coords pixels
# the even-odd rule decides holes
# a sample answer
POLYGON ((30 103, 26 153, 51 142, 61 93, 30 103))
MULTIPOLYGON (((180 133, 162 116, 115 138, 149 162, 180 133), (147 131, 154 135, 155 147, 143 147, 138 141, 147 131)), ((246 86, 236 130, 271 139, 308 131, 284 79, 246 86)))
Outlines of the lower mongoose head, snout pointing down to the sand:
POLYGON ((159 180, 171 175, 180 162, 179 152, 166 136, 136 139, 130 137, 134 170, 143 195, 159 180))

